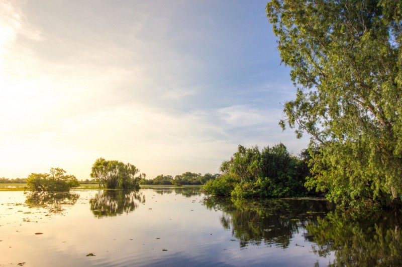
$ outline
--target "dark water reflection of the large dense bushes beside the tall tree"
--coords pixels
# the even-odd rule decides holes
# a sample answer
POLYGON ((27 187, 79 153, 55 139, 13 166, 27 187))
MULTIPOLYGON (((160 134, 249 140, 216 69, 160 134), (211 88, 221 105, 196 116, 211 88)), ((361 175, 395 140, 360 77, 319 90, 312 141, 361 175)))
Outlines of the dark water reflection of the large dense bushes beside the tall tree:
POLYGON ((232 229, 241 247, 263 243, 286 248, 295 233, 333 209, 327 201, 303 199, 253 202, 206 198, 204 203, 210 209, 223 211, 221 223, 225 229, 232 229))

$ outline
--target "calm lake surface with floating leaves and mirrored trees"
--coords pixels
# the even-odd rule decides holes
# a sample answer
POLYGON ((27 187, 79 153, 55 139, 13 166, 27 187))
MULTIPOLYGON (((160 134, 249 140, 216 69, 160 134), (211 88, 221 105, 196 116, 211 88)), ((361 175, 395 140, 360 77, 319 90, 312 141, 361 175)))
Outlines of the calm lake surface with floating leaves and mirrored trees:
POLYGON ((395 215, 359 222, 331 212, 323 200, 214 200, 197 187, 183 187, 77 190, 57 196, 10 191, 0 192, 0 203, 1 266, 402 262, 395 215), (386 246, 382 251, 374 237, 386 246))

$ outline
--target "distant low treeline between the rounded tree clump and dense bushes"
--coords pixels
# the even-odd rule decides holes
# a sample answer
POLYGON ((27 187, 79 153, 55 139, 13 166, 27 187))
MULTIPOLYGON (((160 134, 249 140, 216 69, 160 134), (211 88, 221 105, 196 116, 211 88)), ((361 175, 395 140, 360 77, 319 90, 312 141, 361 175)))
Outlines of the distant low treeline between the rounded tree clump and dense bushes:
POLYGON ((165 185, 180 185, 180 184, 193 184, 193 185, 201 185, 205 184, 209 180, 215 180, 219 177, 220 174, 215 173, 206 173, 201 175, 200 173, 192 173, 192 172, 185 172, 183 174, 179 174, 176 176, 171 175, 158 175, 153 179, 141 179, 140 184, 165 184, 165 185))

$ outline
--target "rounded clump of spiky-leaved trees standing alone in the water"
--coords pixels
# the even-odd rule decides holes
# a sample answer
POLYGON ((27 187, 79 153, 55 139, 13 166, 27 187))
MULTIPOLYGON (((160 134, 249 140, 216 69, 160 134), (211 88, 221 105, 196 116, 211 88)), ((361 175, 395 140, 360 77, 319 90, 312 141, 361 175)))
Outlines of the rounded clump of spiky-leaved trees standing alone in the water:
POLYGON ((139 189, 139 182, 145 174, 139 174, 136 166, 117 160, 98 158, 92 165, 91 177, 100 186, 108 189, 139 189))

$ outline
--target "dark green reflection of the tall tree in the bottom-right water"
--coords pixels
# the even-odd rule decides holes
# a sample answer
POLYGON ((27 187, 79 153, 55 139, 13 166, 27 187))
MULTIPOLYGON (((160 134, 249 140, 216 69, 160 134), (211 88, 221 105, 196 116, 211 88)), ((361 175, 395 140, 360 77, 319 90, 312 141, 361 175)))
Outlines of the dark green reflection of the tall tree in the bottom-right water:
POLYGON ((335 253, 331 265, 402 266, 400 212, 331 212, 308 232, 315 253, 335 253))

